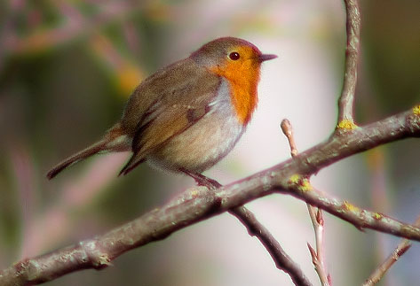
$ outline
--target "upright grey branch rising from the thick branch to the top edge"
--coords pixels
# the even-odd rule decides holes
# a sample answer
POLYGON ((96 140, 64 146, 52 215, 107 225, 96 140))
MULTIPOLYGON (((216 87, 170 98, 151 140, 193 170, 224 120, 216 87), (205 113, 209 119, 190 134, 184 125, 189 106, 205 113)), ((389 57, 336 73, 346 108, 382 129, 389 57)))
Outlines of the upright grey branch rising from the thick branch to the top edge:
POLYGON ((338 127, 354 127, 354 93, 357 83, 357 63, 360 50, 361 13, 358 0, 345 0, 345 27, 347 44, 345 47, 345 78, 338 101, 338 127))

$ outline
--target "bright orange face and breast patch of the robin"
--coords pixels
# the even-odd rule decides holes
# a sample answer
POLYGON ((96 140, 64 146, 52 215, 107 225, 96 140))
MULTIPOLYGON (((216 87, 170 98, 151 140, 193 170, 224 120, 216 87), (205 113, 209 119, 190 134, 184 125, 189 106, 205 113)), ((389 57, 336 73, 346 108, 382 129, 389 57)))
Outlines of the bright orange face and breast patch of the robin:
POLYGON ((258 104, 259 64, 252 59, 241 63, 228 63, 210 69, 230 83, 230 96, 238 120, 246 125, 258 104))

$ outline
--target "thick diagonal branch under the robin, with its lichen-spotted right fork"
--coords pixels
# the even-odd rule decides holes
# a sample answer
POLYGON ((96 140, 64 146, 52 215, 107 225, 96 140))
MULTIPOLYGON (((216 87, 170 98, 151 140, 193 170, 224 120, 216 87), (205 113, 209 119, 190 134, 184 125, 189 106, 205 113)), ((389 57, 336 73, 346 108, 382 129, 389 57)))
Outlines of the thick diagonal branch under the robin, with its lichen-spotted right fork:
POLYGON ((332 135, 325 143, 238 182, 209 192, 205 187, 186 189, 178 197, 103 236, 82 241, 33 259, 24 259, 0 272, 0 284, 23 285, 50 281, 86 268, 100 269, 133 248, 161 240, 181 228, 244 205, 275 191, 300 198, 357 228, 372 228, 420 241, 420 228, 380 213, 362 210, 348 202, 305 188, 305 178, 342 158, 377 145, 420 136, 420 105, 407 112, 332 135))

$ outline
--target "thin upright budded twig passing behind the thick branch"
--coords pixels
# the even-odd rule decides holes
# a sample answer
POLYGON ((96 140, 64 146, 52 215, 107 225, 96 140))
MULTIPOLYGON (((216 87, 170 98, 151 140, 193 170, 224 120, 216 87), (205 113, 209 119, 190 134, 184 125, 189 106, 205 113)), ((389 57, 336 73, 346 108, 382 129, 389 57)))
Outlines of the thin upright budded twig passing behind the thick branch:
MULTIPOLYGON (((288 138, 290 146, 290 155, 292 158, 297 156, 297 147, 295 143, 295 138, 293 136, 293 128, 289 120, 281 120, 281 131, 288 138)), ((321 209, 313 207, 312 205, 306 204, 308 207, 309 216, 313 224, 313 230, 315 231, 315 247, 316 251, 313 250, 311 244, 308 243, 308 249, 311 253, 313 266, 315 267, 316 273, 320 277, 321 284, 323 286, 328 286, 331 284, 330 276, 325 270, 324 266, 324 220, 322 218, 321 209)))

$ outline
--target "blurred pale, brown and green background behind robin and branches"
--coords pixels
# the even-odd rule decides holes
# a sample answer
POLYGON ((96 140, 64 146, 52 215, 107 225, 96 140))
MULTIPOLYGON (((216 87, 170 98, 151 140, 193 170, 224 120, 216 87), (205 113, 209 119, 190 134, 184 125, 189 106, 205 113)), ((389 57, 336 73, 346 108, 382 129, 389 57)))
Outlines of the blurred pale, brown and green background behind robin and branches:
MULTIPOLYGON (((420 103, 417 0, 361 1, 357 120, 383 119, 420 103)), ((232 35, 279 58, 265 63, 259 106, 234 151, 205 174, 233 182, 289 158, 288 118, 303 151, 337 118, 345 11, 337 0, 25 1, 0 3, 0 267, 103 234, 164 204, 190 178, 141 165, 116 174, 128 153, 80 163, 48 182, 60 159, 118 120, 139 82, 203 43, 232 35)), ((313 185, 412 222, 420 213, 420 143, 409 139, 324 169, 313 185)), ((273 195, 249 204, 316 285, 306 206, 273 195)), ((329 214, 326 265, 335 285, 361 284, 399 239, 329 214)), ((125 253, 102 271, 47 285, 291 285, 257 241, 223 214, 125 253)), ((420 281, 420 245, 380 285, 420 281)))

